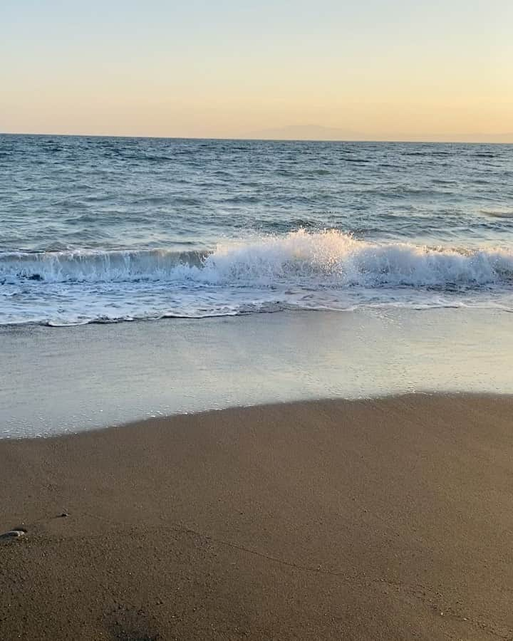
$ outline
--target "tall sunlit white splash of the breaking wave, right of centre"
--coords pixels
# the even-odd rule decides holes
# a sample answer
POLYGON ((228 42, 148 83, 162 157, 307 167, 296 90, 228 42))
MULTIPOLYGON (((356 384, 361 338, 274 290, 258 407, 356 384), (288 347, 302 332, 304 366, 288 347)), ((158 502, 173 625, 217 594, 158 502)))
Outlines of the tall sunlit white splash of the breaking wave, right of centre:
POLYGON ((513 252, 505 249, 429 249, 371 243, 338 231, 220 245, 195 278, 210 282, 311 280, 331 286, 474 286, 512 281, 513 252))

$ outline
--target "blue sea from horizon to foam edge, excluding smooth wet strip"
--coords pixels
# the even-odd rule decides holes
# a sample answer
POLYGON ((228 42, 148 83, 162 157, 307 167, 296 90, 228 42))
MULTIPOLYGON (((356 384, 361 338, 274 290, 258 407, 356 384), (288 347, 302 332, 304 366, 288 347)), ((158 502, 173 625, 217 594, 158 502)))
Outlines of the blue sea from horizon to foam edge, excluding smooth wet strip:
POLYGON ((513 310, 513 145, 0 136, 0 324, 513 310))

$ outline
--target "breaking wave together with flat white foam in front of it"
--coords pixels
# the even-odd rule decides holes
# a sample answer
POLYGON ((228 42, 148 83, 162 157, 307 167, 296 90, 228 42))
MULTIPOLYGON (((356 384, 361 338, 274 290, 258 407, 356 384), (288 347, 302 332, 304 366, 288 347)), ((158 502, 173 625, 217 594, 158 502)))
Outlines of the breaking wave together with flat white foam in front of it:
POLYGON ((281 309, 513 308, 513 252, 376 243, 339 231, 226 241, 210 253, 0 254, 0 324, 68 325, 281 309))

